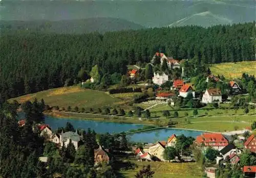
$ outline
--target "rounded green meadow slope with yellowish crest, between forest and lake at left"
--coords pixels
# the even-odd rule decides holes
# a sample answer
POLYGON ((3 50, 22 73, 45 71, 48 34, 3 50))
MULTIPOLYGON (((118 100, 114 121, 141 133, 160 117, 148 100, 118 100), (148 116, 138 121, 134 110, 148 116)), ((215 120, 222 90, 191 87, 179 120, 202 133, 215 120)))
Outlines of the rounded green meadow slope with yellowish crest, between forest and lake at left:
POLYGON ((43 98, 45 103, 49 106, 58 106, 59 108, 68 106, 78 108, 95 108, 103 106, 118 106, 122 105, 123 101, 119 98, 115 98, 107 93, 97 90, 82 89, 78 86, 61 87, 41 91, 33 94, 27 94, 12 98, 16 99, 19 103, 24 103, 27 100, 38 100, 43 98))

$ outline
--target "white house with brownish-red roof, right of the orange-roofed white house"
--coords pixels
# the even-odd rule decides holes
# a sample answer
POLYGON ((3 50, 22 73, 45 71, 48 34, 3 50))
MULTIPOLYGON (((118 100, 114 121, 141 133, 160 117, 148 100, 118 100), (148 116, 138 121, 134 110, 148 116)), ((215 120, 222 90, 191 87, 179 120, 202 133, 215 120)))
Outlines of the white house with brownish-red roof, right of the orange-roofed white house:
POLYGON ((220 103, 221 100, 221 90, 218 88, 210 88, 207 89, 203 94, 202 103, 220 103))

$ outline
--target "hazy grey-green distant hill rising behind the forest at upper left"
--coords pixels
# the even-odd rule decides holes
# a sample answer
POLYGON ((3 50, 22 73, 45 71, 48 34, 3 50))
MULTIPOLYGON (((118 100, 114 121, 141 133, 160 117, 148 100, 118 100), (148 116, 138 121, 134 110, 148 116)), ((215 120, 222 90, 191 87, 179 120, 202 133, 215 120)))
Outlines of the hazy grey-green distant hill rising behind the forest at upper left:
POLYGON ((109 32, 121 30, 138 30, 144 29, 139 24, 122 20, 118 18, 87 18, 75 20, 33 20, 33 21, 1 21, 0 28, 2 30, 29 30, 41 31, 44 33, 90 33, 90 32, 109 32))

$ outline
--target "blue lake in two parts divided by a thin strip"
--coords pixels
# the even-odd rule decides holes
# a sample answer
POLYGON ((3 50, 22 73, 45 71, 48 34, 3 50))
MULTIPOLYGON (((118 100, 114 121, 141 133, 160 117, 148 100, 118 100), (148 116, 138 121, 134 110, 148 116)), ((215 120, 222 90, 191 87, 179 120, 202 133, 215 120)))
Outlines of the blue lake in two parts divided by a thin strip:
MULTIPOLYGON (((23 113, 19 113, 20 118, 24 118, 23 113)), ((45 123, 49 124, 52 130, 57 130, 59 127, 65 127, 66 123, 70 122, 74 128, 87 130, 90 128, 96 133, 120 133, 129 130, 136 130, 143 128, 143 124, 135 123, 116 123, 116 122, 100 122, 93 120, 84 119, 73 119, 73 118, 54 118, 50 116, 45 116, 45 123)), ((159 129, 153 131, 147 131, 142 133, 136 133, 127 135, 127 138, 133 142, 147 142, 154 143, 160 140, 167 140, 172 134, 196 137, 201 135, 202 132, 199 131, 188 131, 188 130, 178 130, 178 129, 159 129)))

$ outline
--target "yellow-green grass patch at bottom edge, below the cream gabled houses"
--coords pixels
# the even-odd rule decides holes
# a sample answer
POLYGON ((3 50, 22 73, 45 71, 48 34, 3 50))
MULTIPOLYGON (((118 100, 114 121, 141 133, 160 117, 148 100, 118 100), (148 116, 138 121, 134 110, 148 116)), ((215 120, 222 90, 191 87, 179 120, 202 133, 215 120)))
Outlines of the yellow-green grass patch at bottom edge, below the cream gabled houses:
POLYGON ((137 162, 135 170, 122 170, 122 177, 132 178, 143 165, 151 165, 151 170, 155 171, 154 178, 199 178, 202 177, 201 167, 197 163, 168 163, 168 162, 137 162))

